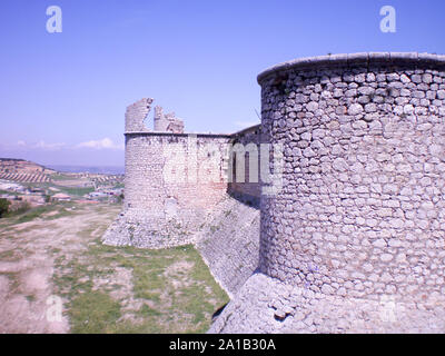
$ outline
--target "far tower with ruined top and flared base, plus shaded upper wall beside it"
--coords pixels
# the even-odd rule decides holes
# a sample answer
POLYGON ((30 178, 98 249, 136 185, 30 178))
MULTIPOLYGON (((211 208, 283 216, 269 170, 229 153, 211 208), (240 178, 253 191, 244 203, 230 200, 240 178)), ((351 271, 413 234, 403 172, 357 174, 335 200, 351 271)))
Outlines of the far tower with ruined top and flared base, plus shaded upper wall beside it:
POLYGON ((151 131, 145 121, 152 101, 138 100, 126 111, 125 209, 103 237, 110 245, 191 243, 229 186, 237 199, 259 204, 258 179, 249 182, 249 154, 230 150, 241 142, 259 152, 259 127, 234 135, 184 134, 184 122, 157 106, 151 131), (247 176, 239 184, 230 182, 233 166, 245 166, 247 176))

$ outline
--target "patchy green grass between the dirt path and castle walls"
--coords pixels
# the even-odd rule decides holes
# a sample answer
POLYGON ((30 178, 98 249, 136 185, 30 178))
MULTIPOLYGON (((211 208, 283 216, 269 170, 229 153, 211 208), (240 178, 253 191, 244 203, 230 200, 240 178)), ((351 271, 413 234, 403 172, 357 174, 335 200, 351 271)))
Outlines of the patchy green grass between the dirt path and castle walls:
POLYGON ((95 240, 82 258, 57 260, 55 284, 69 300, 73 333, 204 333, 228 301, 192 246, 145 250, 95 240))

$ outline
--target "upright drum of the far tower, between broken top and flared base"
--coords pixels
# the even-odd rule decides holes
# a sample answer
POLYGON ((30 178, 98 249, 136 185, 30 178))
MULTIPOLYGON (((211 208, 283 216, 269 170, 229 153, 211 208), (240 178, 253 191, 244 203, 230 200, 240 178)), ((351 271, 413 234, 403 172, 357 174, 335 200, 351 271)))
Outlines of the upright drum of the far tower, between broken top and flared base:
POLYGON ((126 209, 199 218, 226 192, 227 141, 202 134, 126 134, 126 209))

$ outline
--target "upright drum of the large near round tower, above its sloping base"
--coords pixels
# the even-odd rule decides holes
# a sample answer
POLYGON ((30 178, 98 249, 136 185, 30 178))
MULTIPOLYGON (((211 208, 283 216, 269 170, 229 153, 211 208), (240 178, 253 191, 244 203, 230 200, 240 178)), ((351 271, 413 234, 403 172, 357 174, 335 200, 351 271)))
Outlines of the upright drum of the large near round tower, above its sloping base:
POLYGON ((445 58, 357 53, 258 76, 284 145, 261 196, 260 270, 326 295, 445 294, 445 58))

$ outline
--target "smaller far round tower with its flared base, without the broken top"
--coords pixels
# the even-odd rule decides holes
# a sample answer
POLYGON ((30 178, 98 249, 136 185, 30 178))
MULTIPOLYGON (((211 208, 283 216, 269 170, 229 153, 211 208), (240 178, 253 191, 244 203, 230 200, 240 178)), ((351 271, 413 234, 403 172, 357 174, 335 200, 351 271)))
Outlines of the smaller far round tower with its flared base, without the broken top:
POLYGON ((202 216, 226 195, 228 139, 127 132, 125 209, 103 241, 150 248, 190 243, 202 216))

